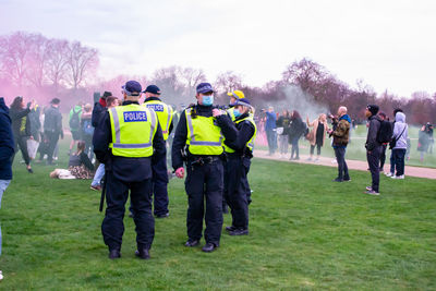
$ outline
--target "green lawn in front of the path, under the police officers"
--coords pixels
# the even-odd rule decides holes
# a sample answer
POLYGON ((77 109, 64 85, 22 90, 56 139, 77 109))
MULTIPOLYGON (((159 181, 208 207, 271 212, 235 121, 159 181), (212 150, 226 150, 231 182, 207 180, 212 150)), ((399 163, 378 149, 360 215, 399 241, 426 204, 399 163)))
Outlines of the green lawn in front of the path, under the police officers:
POLYGON ((334 168, 257 159, 250 235, 222 234, 218 251, 205 254, 183 246, 186 196, 173 179, 171 216, 156 220, 152 259, 144 262, 134 257, 129 217, 122 258, 107 258, 99 193, 89 181, 50 180, 47 166, 34 170, 15 163, 3 196, 1 290, 436 289, 435 180, 382 178, 375 197, 363 194, 367 172, 351 171, 352 182, 338 184, 330 182, 334 168))

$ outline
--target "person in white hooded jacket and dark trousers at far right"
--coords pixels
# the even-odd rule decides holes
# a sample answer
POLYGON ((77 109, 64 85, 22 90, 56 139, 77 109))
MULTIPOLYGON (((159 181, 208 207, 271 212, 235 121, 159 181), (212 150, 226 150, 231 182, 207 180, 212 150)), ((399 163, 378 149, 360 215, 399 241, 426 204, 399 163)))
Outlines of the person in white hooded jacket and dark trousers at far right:
POLYGON ((405 123, 405 114, 397 112, 393 123, 392 147, 393 165, 390 167, 392 179, 404 179, 404 157, 408 148, 408 124, 405 123), (395 173, 395 170, 397 172, 395 173))

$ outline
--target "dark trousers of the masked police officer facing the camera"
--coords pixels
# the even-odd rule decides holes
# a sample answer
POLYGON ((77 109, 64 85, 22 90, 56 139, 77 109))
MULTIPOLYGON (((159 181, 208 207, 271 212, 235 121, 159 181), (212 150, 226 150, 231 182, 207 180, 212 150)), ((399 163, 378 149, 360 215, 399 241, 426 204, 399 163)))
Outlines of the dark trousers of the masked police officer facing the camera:
POLYGON ((190 240, 199 240, 202 238, 203 218, 205 218, 206 229, 204 235, 206 242, 219 245, 222 228, 222 161, 217 159, 203 166, 192 166, 191 161, 189 161, 186 172, 187 237, 190 240))

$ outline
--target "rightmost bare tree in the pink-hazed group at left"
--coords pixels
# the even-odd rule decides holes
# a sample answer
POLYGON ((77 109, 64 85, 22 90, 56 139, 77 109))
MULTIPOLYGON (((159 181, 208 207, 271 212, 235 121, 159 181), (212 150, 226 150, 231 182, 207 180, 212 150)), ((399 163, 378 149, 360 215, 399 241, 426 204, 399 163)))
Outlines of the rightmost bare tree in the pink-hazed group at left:
POLYGON ((86 76, 96 71, 98 65, 98 51, 83 47, 74 41, 69 45, 68 80, 74 89, 85 81, 86 76))

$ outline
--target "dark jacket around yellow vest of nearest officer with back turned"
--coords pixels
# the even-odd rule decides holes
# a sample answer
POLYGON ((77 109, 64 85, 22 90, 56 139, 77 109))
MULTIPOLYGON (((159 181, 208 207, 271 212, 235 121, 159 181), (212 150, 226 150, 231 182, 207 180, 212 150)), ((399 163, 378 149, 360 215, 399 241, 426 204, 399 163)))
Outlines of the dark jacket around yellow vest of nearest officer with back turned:
MULTIPOLYGON (((137 104, 124 101, 123 106, 137 104)), ((165 158, 167 149, 160 130, 157 123, 156 134, 153 138, 153 159, 165 158)), ((126 158, 112 155, 109 144, 112 142, 112 131, 110 126, 109 112, 106 111, 94 131, 93 145, 97 159, 105 163, 107 171, 112 171, 113 175, 125 182, 138 182, 152 178, 152 158, 126 158)))

